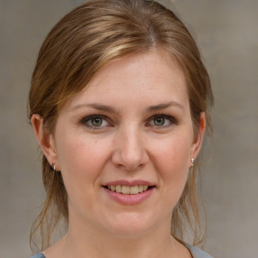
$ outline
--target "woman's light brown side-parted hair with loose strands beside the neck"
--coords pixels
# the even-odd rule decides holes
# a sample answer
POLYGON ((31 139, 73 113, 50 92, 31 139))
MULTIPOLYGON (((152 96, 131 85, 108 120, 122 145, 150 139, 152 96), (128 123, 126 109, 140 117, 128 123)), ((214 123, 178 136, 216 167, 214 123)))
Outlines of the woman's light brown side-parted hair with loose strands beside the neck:
MULTIPOLYGON (((174 13, 154 1, 93 0, 72 10, 49 32, 32 74, 28 117, 43 118, 44 134, 54 132, 62 108, 113 60, 137 52, 162 50, 174 58, 185 75, 193 129, 206 113, 206 132, 212 134, 209 108, 213 94, 199 49, 174 13)), ((198 161, 192 167, 182 196, 174 208, 171 234, 182 239, 186 225, 201 241, 200 210, 196 188, 198 161)), ((61 219, 68 222, 68 198, 61 173, 53 173, 42 154, 42 178, 46 199, 34 222, 30 242, 38 250, 49 246, 50 236, 61 219), (39 232, 40 239, 34 239, 39 232), (38 245, 41 243, 41 245, 38 245)))

